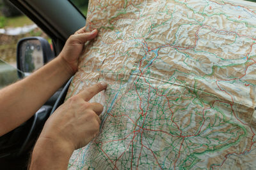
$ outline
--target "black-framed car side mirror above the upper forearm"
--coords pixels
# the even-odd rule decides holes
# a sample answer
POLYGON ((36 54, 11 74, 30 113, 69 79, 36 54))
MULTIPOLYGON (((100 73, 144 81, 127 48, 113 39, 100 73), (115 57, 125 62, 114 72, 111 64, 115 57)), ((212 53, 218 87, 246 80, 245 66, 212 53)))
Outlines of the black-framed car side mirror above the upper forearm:
POLYGON ((19 70, 19 78, 28 76, 53 58, 54 53, 46 39, 41 37, 20 39, 17 45, 17 69, 19 70))

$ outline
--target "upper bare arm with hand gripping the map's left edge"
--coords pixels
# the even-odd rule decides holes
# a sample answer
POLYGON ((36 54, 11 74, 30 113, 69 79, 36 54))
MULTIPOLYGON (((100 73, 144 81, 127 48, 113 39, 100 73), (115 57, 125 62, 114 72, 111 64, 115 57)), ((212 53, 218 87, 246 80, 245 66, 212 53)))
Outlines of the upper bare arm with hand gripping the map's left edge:
POLYGON ((97 31, 84 28, 68 38, 56 59, 27 78, 0 90, 0 136, 26 122, 76 71, 84 43, 97 31))

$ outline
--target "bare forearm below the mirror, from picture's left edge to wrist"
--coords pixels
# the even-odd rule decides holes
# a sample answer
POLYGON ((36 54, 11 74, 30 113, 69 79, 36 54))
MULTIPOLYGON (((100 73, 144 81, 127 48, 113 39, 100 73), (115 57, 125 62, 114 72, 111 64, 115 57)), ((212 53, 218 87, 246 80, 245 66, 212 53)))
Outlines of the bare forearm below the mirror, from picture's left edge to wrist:
POLYGON ((72 76, 61 57, 0 91, 0 136, 26 122, 72 76))

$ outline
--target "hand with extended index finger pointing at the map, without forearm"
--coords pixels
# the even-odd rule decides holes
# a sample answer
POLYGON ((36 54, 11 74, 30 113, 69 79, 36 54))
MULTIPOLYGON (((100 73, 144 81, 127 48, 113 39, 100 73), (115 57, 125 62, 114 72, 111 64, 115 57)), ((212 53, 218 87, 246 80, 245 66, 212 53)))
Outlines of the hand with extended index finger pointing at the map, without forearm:
POLYGON ((99 133, 98 115, 103 110, 101 104, 88 101, 107 86, 106 83, 97 83, 70 97, 47 120, 38 140, 50 139, 72 152, 87 145, 99 133))

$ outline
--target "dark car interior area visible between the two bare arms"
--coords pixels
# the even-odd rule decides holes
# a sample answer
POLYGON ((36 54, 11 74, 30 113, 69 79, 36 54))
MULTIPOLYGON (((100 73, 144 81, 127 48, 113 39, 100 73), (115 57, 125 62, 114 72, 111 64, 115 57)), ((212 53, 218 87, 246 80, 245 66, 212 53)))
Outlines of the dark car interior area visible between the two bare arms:
POLYGON ((58 90, 27 122, 0 137, 0 164, 3 169, 26 169, 30 152, 44 124, 52 113, 65 101, 68 87, 73 77, 63 89, 58 90), (15 165, 13 164, 15 162, 15 165))

